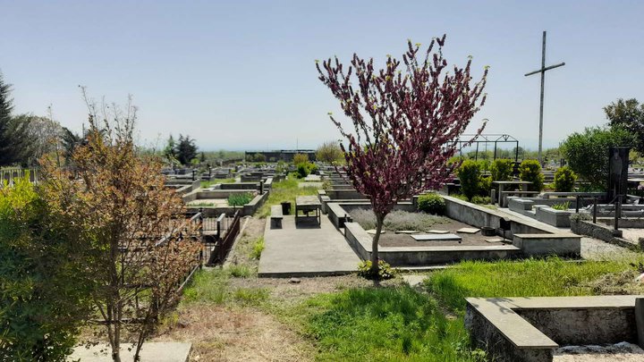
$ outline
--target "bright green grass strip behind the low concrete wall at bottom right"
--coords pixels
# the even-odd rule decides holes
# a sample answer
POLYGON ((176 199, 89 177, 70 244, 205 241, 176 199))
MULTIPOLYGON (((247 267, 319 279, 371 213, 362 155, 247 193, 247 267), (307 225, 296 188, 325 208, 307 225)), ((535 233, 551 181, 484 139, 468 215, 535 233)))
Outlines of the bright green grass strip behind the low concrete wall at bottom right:
POLYGON ((595 295, 590 285, 606 274, 632 270, 627 261, 566 262, 558 258, 468 261, 430 274, 425 286, 442 305, 462 311, 467 297, 555 297, 595 295))

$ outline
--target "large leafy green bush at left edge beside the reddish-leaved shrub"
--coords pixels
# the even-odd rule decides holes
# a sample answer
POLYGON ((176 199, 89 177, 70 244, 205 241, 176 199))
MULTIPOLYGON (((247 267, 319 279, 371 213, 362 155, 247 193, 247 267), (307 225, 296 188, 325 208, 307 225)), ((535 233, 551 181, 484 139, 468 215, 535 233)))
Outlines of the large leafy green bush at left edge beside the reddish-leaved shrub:
POLYGON ((0 188, 0 359, 59 361, 89 316, 82 248, 29 176, 0 188))

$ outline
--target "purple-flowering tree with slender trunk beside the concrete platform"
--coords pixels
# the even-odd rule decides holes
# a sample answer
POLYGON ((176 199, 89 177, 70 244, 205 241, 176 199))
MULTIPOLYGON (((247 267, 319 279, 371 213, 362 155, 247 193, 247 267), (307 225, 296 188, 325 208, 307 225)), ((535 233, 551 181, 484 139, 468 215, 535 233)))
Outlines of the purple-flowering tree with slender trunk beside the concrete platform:
MULTIPOLYGON (((487 68, 474 84, 470 84, 471 59, 465 68, 454 66, 452 73, 444 74, 444 44, 445 36, 433 39, 423 55, 419 44, 408 41, 409 49, 402 55, 404 71, 391 55, 379 71, 373 59, 366 61, 358 55, 353 55, 346 71, 337 57, 324 61, 322 68, 316 62, 319 80, 340 101, 355 129, 355 133, 344 130, 329 114, 349 144, 348 149, 342 145, 347 176, 371 200, 376 215, 371 254, 374 275, 386 215, 398 200, 437 189, 445 182, 453 170, 446 161, 456 153, 460 136, 485 103, 487 68)), ((484 127, 485 123, 469 142, 484 127)))

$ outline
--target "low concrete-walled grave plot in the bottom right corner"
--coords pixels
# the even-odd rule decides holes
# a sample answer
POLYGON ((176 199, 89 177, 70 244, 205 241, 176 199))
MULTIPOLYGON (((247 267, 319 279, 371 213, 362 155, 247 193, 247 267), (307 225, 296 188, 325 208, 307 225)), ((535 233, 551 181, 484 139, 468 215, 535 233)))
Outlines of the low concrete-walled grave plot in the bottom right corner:
POLYGON ((499 362, 549 362, 565 346, 638 343, 644 296, 468 298, 465 326, 499 362))

